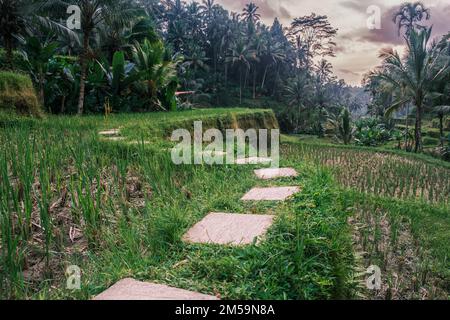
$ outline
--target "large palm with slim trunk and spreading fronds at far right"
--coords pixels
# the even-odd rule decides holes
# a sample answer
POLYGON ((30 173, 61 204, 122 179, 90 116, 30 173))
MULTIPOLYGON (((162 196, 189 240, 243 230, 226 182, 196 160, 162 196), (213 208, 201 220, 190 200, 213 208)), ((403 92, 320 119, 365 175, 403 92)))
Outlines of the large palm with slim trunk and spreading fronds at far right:
POLYGON ((412 102, 416 107, 414 151, 422 150, 422 115, 424 102, 432 98, 433 86, 449 71, 449 62, 439 65, 441 51, 428 48, 432 28, 411 29, 407 41, 406 58, 402 59, 392 49, 383 50, 384 71, 375 72, 373 77, 405 88, 404 96, 395 101, 390 109, 412 102))

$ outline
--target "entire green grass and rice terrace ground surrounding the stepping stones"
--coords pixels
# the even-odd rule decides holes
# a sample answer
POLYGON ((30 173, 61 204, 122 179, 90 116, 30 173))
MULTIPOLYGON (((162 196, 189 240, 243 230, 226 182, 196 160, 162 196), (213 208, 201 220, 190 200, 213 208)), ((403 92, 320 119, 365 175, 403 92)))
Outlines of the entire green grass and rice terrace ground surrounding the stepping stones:
POLYGON ((294 179, 261 182, 258 166, 176 166, 166 137, 196 119, 276 125, 270 111, 217 109, 0 129, 0 297, 89 299, 124 277, 224 299, 447 297, 450 170, 441 162, 290 137, 281 165, 297 169, 294 179), (99 137, 111 128, 124 140, 99 137), (264 185, 302 192, 276 204, 239 201, 264 185), (258 245, 183 243, 211 211, 276 220, 258 245), (380 292, 364 289, 369 264, 385 275, 380 292), (81 290, 66 289, 70 265, 82 270, 81 290))

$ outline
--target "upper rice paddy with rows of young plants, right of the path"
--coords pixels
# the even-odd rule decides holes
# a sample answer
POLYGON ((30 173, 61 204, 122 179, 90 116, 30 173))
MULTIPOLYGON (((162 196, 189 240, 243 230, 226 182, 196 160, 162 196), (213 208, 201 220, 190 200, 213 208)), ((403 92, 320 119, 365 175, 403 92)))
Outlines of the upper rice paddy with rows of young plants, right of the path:
MULTIPOLYGON (((290 145, 285 145, 289 152, 290 145)), ((301 144, 295 155, 330 168, 344 187, 385 197, 448 205, 450 169, 412 157, 358 148, 301 144)))

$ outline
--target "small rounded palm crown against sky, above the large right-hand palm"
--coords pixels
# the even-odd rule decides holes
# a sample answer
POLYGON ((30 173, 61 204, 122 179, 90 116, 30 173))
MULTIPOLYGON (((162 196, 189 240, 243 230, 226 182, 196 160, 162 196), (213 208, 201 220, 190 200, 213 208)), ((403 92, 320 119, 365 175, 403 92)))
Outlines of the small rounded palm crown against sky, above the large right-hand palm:
POLYGON ((423 18, 430 19, 430 9, 425 8, 422 2, 414 2, 402 4, 394 13, 392 21, 397 24, 399 36, 403 28, 405 35, 409 36, 413 28, 423 27, 418 24, 423 18))

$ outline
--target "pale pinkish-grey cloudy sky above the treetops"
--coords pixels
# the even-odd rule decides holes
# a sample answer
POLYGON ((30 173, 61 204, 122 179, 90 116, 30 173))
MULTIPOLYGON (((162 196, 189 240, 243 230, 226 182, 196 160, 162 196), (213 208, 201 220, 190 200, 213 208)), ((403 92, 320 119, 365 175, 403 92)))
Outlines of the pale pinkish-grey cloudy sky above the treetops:
MULTIPOLYGON (((197 0, 198 1, 198 0, 197 0)), ((226 9, 241 12, 250 0, 216 0, 226 9)), ((349 84, 359 85, 364 73, 380 63, 378 52, 384 47, 402 50, 403 39, 398 37, 393 12, 405 0, 253 0, 259 6, 262 19, 272 24, 278 17, 288 26, 295 17, 311 12, 327 15, 331 24, 338 28, 337 55, 329 58, 335 74, 349 84), (371 5, 381 9, 381 29, 369 30, 367 20, 371 5)), ((424 0, 431 9, 434 36, 450 31, 450 0, 424 0)))

